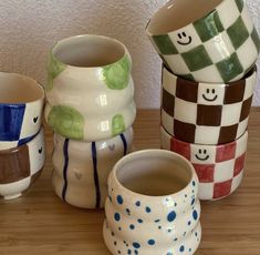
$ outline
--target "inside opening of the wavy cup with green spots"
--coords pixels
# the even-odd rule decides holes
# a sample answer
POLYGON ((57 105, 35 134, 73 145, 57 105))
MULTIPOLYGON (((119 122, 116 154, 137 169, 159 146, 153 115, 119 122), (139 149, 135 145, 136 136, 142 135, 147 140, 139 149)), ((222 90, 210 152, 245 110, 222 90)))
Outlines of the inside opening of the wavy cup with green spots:
POLYGON ((77 35, 60 41, 53 48, 60 62, 77 68, 96 68, 112 64, 125 55, 124 45, 102 35, 77 35))

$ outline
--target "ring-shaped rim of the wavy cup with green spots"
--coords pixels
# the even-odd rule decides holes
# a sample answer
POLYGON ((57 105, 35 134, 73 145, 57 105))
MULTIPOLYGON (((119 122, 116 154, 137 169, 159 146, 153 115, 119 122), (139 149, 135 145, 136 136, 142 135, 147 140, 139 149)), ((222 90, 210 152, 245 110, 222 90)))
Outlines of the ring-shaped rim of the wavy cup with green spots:
POLYGON ((100 34, 89 34, 89 33, 71 35, 71 37, 67 37, 67 38, 64 38, 64 39, 61 39, 61 40, 56 41, 54 43, 54 45, 51 48, 50 54, 51 54, 51 58, 54 59, 54 61, 56 61, 56 62, 59 62, 59 63, 61 63, 65 67, 72 68, 72 69, 92 70, 92 69, 105 68, 105 67, 110 67, 110 65, 113 65, 113 64, 122 61, 126 57, 128 58, 129 62, 132 62, 132 58, 129 55, 129 52, 128 52, 127 48, 125 47, 125 44, 123 42, 121 42, 119 40, 114 39, 112 37, 100 35, 100 34), (71 40, 79 40, 79 39, 82 39, 82 38, 96 38, 96 39, 102 39, 102 40, 107 40, 107 41, 114 42, 114 43, 118 44, 119 47, 122 47, 122 49, 124 50, 124 54, 122 54, 121 58, 116 58, 116 61, 114 61, 112 63, 103 64, 103 65, 96 65, 96 67, 80 67, 80 65, 75 65, 75 64, 69 64, 69 63, 65 63, 65 62, 61 61, 59 58, 56 58, 54 51, 58 50, 59 44, 69 42, 71 40))

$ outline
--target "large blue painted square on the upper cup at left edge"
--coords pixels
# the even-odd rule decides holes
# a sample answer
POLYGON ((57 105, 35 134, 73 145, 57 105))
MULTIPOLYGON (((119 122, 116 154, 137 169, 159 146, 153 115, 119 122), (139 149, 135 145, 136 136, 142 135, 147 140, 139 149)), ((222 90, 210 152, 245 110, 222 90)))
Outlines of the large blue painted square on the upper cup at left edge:
POLYGON ((0 141, 18 141, 20 137, 25 104, 0 104, 0 141))

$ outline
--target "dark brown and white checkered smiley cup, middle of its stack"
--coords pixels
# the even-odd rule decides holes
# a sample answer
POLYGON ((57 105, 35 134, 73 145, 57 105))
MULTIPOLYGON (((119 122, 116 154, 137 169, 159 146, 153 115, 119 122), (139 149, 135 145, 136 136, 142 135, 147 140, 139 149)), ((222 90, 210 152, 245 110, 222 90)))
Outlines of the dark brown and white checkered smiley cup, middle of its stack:
POLYGON ((162 124, 176 139, 197 144, 223 144, 248 126, 257 71, 232 83, 197 83, 163 70, 162 124))

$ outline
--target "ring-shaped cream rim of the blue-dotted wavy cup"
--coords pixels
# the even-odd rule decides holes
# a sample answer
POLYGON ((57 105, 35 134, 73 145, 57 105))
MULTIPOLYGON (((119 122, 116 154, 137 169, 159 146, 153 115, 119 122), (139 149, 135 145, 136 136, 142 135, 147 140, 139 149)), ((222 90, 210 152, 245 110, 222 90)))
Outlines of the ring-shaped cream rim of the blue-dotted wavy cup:
POLYGON ((171 151, 168 151, 168 150, 162 150, 162 149, 146 149, 146 150, 141 150, 141 151, 135 151, 135 152, 132 152, 132 153, 125 155, 119 161, 117 161, 117 163, 114 165, 114 167, 113 167, 113 170, 112 170, 112 172, 110 174, 110 177, 108 177, 108 186, 110 186, 110 182, 111 182, 112 178, 114 180, 114 182, 117 185, 117 187, 119 190, 123 190, 129 196, 138 195, 139 197, 149 198, 149 200, 160 200, 160 198, 165 198, 165 197, 173 196, 173 195, 174 196, 179 195, 179 194, 184 193, 185 191, 187 191, 189 188, 189 186, 191 185, 194 178, 196 178, 196 182, 198 184, 198 177, 197 177, 197 174, 195 172, 195 169, 194 169, 193 164, 188 160, 186 160, 183 155, 180 155, 178 153, 175 153, 175 152, 171 152, 171 151), (142 154, 145 155, 145 154, 150 154, 150 153, 154 153, 154 154, 158 154, 159 153, 163 156, 168 155, 170 157, 170 160, 183 161, 186 164, 187 170, 189 170, 189 172, 190 172, 189 181, 187 182, 187 184, 181 190, 179 190, 178 192, 166 194, 166 195, 158 195, 158 196, 156 196, 156 195, 145 195, 145 194, 142 194, 142 193, 138 193, 138 192, 134 192, 134 191, 125 187, 119 182, 119 180, 117 178, 117 171, 128 160, 135 160, 135 157, 138 156, 138 155, 142 155, 142 154))

